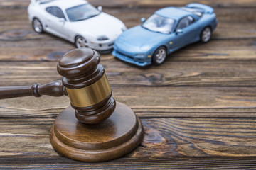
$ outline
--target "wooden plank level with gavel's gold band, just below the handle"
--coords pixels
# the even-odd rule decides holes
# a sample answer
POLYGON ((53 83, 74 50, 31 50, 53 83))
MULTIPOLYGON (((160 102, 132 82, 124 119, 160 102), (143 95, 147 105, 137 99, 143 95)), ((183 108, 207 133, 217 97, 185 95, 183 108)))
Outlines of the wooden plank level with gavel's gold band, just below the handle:
MULTIPOLYGON (((114 86, 112 90, 116 101, 130 106, 141 117, 255 118, 255 87, 114 86)), ((0 101, 0 113, 3 117, 19 117, 23 113, 31 117, 52 116, 69 103, 68 97, 9 98, 0 101)))

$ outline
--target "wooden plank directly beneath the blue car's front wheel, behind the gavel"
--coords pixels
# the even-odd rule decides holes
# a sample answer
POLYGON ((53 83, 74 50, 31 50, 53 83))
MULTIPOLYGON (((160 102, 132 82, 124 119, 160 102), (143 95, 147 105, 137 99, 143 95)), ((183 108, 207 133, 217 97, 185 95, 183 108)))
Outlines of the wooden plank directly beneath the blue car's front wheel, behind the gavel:
MULTIPOLYGON (((255 63, 253 60, 183 62, 173 61, 169 57, 161 67, 140 68, 114 58, 109 60, 102 57, 111 86, 255 86, 255 63), (229 67, 230 64, 233 67, 229 67)), ((8 81, 9 86, 25 86, 61 79, 56 64, 8 62, 6 65, 0 62, 0 86, 5 86, 8 81)))

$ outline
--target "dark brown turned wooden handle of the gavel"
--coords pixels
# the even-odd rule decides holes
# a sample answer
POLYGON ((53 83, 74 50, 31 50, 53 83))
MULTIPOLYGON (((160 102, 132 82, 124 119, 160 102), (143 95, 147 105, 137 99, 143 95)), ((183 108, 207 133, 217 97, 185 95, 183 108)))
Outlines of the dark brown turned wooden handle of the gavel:
POLYGON ((41 97, 43 95, 48 96, 63 96, 67 95, 65 87, 62 81, 56 80, 48 84, 33 84, 32 86, 4 86, 0 87, 0 99, 4 98, 16 98, 23 96, 35 96, 41 97))

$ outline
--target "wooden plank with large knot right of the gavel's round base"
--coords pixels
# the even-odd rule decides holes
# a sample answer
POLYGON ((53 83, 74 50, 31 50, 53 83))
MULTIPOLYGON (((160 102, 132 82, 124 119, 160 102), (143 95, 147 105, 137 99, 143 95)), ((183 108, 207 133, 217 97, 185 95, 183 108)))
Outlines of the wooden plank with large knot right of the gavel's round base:
MULTIPOLYGON (((54 119, 3 118, 0 157, 56 157, 48 134, 54 119), (11 140, 11 142, 10 142, 11 140), (35 143, 36 145, 31 145, 35 143)), ((142 119, 142 144, 125 157, 255 157, 256 120, 243 118, 142 119)))

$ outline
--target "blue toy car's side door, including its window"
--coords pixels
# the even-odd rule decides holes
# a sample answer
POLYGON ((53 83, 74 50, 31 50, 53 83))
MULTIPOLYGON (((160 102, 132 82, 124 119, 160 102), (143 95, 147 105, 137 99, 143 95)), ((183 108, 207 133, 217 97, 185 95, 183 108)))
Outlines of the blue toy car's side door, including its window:
POLYGON ((192 16, 185 16, 178 21, 175 29, 174 48, 178 49, 184 47, 196 38, 196 24, 192 16))

